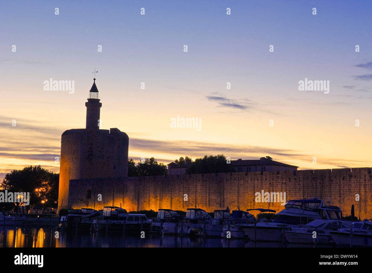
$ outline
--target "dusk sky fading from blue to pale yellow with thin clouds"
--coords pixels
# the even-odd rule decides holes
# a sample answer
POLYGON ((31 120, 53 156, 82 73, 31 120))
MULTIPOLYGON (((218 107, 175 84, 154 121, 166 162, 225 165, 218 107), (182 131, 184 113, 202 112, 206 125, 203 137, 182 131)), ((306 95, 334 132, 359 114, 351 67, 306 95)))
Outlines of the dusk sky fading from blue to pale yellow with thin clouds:
POLYGON ((59 172, 61 134, 85 128, 93 71, 100 128, 127 133, 136 162, 222 153, 370 167, 371 10, 371 1, 1 1, 0 177, 29 165, 59 172), (51 78, 74 92, 45 90, 51 78), (329 93, 299 90, 305 78, 329 81, 329 93), (200 130, 172 128, 177 116, 201 119, 200 130))

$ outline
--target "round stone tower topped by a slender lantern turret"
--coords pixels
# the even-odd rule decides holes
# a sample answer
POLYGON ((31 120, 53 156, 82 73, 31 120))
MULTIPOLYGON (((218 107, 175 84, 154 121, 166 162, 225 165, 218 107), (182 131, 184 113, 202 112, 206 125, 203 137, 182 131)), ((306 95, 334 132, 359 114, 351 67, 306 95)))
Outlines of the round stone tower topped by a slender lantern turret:
MULTIPOLYGON (((69 183, 73 179, 126 177, 129 137, 118 128, 102 130, 96 79, 89 91, 86 128, 64 131, 61 137, 58 209, 68 209, 69 183)), ((96 198, 87 193, 86 198, 96 198)))

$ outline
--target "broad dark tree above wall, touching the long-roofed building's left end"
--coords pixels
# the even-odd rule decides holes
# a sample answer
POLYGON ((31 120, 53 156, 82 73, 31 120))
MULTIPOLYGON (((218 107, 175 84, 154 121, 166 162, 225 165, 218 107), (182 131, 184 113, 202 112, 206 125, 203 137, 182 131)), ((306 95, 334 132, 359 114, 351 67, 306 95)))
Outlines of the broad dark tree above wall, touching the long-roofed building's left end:
POLYGON ((231 164, 227 164, 224 155, 197 158, 186 169, 186 174, 211 174, 218 172, 235 172, 231 164))

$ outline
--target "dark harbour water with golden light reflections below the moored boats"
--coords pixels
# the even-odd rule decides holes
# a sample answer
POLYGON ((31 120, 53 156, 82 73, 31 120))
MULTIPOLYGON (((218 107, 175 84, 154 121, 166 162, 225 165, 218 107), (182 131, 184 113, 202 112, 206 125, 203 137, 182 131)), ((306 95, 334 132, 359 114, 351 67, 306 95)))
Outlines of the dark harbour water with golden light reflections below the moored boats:
MULTIPOLYGON (((0 228, 0 247, 255 247, 255 243, 242 239, 188 238, 147 234, 140 232, 123 235, 117 233, 90 233, 89 231, 61 231, 49 228, 0 228)), ((281 242, 256 242, 256 247, 283 247, 281 242)), ((313 245, 284 245, 284 247, 314 247, 313 245)), ((332 247, 320 245, 319 247, 332 247)))

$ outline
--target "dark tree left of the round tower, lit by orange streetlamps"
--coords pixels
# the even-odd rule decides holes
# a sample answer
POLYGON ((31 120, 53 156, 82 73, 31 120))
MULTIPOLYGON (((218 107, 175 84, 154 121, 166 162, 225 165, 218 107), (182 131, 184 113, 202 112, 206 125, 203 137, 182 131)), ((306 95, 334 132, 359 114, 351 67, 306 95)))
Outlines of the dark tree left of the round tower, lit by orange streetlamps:
POLYGON ((28 166, 7 173, 0 190, 30 193, 30 205, 45 201, 45 206, 57 206, 60 174, 41 166, 28 166))

